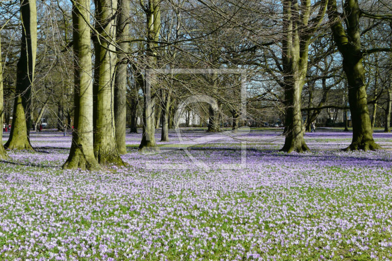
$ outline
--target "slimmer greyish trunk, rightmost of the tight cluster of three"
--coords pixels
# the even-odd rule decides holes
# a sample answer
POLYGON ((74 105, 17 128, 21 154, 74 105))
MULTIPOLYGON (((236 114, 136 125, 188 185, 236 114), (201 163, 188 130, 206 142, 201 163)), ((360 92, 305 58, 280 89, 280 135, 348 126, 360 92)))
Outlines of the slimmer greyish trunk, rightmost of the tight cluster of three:
POLYGON ((116 125, 116 145, 120 154, 126 153, 126 74, 128 67, 126 54, 129 52, 129 44, 122 43, 122 41, 129 38, 129 23, 127 22, 130 12, 129 5, 130 0, 118 0, 116 38, 119 42, 119 47, 117 48, 119 62, 114 86, 114 121, 116 125))

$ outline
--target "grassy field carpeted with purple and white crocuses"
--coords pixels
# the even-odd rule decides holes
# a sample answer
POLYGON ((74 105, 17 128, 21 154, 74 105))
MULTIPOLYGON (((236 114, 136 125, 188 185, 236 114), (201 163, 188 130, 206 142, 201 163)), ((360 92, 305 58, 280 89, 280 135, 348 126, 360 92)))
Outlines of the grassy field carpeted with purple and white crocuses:
POLYGON ((392 133, 369 152, 306 134, 304 154, 278 152, 279 134, 174 150, 208 135, 187 129, 156 155, 127 134, 128 166, 85 172, 61 169, 70 136, 32 133, 37 152, 0 162, 0 259, 392 260, 392 133))

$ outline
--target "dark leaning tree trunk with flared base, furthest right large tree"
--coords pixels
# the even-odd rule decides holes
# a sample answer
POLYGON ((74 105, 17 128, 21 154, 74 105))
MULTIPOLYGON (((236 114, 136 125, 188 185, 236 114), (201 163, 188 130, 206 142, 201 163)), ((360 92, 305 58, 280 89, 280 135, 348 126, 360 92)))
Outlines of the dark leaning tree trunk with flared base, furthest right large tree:
POLYGON ((328 17, 333 38, 343 57, 343 70, 348 82, 348 102, 352 122, 352 142, 345 150, 374 150, 381 148, 373 140, 366 93, 365 70, 362 65, 359 19, 361 10, 357 0, 346 0, 344 4, 344 29, 336 0, 330 0, 328 17))

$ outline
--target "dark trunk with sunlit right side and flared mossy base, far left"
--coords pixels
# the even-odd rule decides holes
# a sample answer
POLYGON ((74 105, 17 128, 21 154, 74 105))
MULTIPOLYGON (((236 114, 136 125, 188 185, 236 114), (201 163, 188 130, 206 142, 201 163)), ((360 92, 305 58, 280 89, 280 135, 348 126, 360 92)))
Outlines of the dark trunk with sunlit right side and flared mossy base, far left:
POLYGON ((29 140, 31 126, 31 88, 37 53, 37 9, 35 0, 21 0, 21 56, 17 64, 14 111, 11 133, 5 147, 33 149, 29 140))

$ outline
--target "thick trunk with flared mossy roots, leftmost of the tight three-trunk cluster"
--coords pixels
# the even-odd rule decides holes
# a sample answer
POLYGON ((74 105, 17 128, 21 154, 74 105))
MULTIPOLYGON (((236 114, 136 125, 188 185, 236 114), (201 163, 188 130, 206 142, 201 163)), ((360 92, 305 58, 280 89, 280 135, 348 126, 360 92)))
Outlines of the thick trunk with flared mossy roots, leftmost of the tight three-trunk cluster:
MULTIPOLYGON (((75 0, 72 8, 74 115, 70 155, 63 168, 98 169, 93 148, 93 81, 91 77, 90 1, 75 0)), ((70 120, 70 119, 69 119, 70 120)), ((69 121, 70 123, 70 121, 69 121)))

